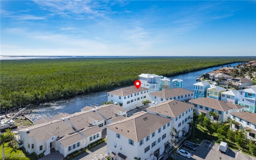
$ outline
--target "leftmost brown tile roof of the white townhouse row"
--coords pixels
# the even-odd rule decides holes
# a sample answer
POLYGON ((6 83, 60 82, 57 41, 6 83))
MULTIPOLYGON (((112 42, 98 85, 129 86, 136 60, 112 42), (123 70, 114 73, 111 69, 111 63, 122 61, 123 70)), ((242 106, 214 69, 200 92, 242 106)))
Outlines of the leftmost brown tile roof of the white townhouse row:
MULTIPOLYGON (((64 136, 65 134, 74 133, 74 129, 63 120, 52 120, 44 124, 38 124, 35 126, 28 127, 28 137, 34 137, 37 142, 41 140, 48 140, 49 136, 64 136)), ((19 131, 26 132, 26 128, 19 131)))

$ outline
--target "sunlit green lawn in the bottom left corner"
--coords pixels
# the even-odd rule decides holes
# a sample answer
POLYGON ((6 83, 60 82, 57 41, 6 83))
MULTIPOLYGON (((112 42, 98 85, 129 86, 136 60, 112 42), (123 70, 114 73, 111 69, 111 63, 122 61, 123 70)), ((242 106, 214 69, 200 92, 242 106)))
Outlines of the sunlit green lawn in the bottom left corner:
MULTIPOLYGON (((2 154, 2 145, 0 147, 0 152, 2 154)), ((19 160, 37 160, 34 156, 27 156, 22 152, 22 150, 14 149, 8 145, 8 142, 4 143, 4 154, 11 154, 11 157, 19 157, 19 160), (20 156, 18 156, 20 155, 20 156), (25 156, 25 157, 23 157, 25 156)))

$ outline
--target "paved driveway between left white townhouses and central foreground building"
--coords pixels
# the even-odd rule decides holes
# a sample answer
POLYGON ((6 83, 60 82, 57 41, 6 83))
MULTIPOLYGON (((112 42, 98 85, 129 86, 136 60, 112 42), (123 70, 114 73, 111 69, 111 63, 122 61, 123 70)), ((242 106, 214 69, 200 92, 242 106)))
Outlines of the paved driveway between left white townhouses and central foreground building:
POLYGON ((98 158, 107 154, 107 143, 103 142, 98 146, 84 152, 72 160, 98 160, 98 158))

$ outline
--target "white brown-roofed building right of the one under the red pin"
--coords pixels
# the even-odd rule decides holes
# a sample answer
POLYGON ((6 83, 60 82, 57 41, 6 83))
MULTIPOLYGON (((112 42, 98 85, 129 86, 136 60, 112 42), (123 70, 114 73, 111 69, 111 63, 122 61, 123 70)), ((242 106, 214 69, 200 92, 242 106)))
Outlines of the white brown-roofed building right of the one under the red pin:
POLYGON ((173 88, 149 94, 150 106, 155 106, 166 100, 188 101, 193 99, 193 92, 184 88, 173 88))

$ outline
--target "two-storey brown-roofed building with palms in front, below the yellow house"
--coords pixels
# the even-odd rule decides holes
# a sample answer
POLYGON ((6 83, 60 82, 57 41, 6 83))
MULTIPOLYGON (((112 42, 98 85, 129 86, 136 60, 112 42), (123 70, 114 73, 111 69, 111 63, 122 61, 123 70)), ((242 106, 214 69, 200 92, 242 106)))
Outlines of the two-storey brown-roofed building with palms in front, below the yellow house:
POLYGON ((210 120, 226 122, 231 112, 244 112, 244 106, 223 102, 213 98, 197 98, 189 100, 194 104, 194 110, 197 115, 205 114, 210 120), (215 112, 217 117, 210 117, 209 112, 215 112))

